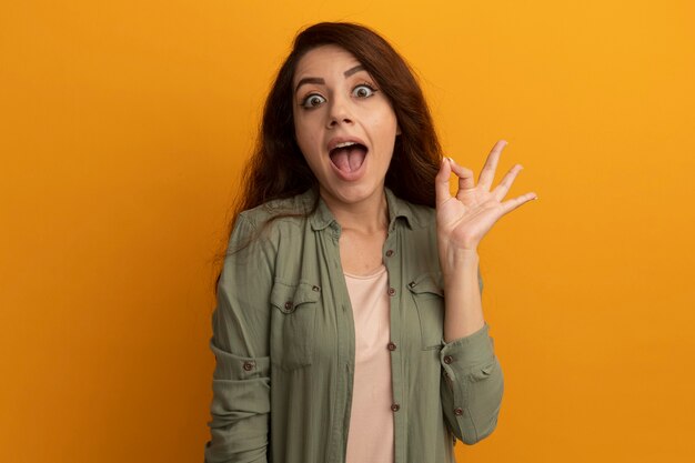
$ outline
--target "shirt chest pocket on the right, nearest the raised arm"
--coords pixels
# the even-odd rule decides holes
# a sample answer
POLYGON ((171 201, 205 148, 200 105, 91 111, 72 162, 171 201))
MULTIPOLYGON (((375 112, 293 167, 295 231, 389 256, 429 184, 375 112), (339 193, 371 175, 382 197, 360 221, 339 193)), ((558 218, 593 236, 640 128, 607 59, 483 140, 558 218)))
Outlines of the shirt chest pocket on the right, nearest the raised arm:
POLYGON ((444 291, 431 273, 423 273, 407 283, 417 316, 422 349, 441 349, 444 338, 444 291))

